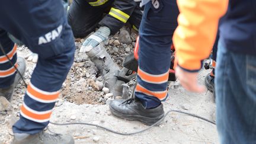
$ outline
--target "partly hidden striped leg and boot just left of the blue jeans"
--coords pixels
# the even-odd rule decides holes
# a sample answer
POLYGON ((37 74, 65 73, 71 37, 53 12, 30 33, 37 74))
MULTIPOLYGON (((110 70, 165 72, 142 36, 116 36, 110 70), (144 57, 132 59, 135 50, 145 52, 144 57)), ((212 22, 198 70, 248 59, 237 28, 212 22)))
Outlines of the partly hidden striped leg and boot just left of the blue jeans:
POLYGON ((206 78, 204 79, 204 84, 206 85, 206 88, 213 92, 213 95, 215 97, 215 66, 216 66, 216 58, 217 58, 217 43, 219 41, 219 33, 217 33, 217 37, 215 40, 215 44, 213 45, 213 55, 212 55, 212 72, 208 73, 206 75, 206 78))

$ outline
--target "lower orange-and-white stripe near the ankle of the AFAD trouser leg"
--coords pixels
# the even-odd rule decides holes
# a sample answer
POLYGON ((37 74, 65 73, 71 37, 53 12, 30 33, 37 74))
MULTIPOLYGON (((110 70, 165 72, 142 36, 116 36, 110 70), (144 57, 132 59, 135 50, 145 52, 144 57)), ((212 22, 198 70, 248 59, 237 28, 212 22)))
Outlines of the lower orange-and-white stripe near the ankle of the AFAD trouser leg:
POLYGON ((27 110, 27 108, 25 108, 24 105, 21 105, 21 112, 23 113, 23 116, 25 115, 24 117, 26 117, 27 119, 31 118, 33 121, 37 121, 37 120, 48 121, 52 114, 52 111, 50 111, 49 113, 45 113, 45 114, 36 114, 36 113, 33 113, 33 112, 27 110))

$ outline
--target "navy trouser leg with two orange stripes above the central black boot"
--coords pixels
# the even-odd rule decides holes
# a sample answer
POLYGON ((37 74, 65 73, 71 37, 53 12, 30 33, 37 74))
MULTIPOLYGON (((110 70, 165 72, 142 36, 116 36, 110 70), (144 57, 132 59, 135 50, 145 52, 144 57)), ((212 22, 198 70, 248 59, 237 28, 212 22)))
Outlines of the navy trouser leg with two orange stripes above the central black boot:
POLYGON ((168 97, 172 35, 179 11, 175 0, 148 2, 139 28, 139 68, 135 96, 145 108, 154 108, 168 97))

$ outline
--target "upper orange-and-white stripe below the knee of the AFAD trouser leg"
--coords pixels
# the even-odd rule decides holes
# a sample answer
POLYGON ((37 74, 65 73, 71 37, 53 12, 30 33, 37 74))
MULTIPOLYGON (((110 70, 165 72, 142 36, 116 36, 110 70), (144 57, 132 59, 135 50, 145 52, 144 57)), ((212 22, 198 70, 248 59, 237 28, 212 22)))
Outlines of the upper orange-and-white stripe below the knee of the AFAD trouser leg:
POLYGON ((53 103, 59 97, 60 92, 42 91, 30 83, 27 87, 27 94, 34 100, 40 101, 42 103, 53 103))

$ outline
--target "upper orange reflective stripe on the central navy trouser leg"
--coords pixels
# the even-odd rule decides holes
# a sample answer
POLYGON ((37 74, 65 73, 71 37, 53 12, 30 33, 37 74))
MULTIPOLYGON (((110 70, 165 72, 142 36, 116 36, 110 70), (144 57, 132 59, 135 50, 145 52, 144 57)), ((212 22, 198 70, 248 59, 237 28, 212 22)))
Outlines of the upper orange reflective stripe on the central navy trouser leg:
POLYGON ((169 76, 168 71, 161 75, 151 75, 149 73, 142 71, 140 68, 138 68, 137 75, 139 75, 143 81, 150 82, 153 84, 161 84, 167 82, 169 76))

